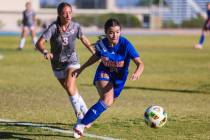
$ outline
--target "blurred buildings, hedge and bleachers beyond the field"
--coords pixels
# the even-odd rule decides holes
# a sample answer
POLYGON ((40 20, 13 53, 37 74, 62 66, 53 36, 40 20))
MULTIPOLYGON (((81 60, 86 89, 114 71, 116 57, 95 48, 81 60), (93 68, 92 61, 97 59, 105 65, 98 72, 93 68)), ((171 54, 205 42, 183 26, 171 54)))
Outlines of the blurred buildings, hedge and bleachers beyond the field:
MULTIPOLYGON (((206 18, 210 0, 31 0, 41 31, 56 19, 60 2, 73 6, 74 19, 85 30, 97 31, 108 17, 116 17, 124 28, 199 29, 206 18)), ((0 0, 0 32, 20 31, 27 0, 0 0)), ((199 30, 200 31, 200 30, 199 30)))

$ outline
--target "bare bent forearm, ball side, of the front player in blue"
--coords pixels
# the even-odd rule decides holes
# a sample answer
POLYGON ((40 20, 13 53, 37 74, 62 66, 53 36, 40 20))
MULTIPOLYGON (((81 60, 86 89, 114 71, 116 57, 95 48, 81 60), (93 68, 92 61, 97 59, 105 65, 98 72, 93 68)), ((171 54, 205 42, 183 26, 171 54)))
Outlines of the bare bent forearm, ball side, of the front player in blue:
POLYGON ((140 78, 141 74, 144 71, 144 62, 140 59, 140 57, 133 58, 132 60, 136 64, 136 69, 131 75, 130 80, 135 81, 140 78))

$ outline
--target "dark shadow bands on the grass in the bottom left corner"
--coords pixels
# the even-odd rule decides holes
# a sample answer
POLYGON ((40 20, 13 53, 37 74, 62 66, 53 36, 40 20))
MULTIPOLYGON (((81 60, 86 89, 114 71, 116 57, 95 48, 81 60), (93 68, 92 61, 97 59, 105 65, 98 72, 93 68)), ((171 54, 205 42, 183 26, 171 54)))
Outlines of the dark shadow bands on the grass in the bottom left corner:
MULTIPOLYGON (((68 138, 73 138, 73 136, 67 136, 67 134, 52 134, 52 133, 59 133, 59 131, 51 131, 51 132, 47 132, 45 130, 60 130, 60 131, 68 131, 67 129, 63 129, 57 126, 51 126, 51 125, 68 125, 69 124, 61 124, 61 123, 34 123, 34 122, 4 122, 4 121, 0 121, 0 127, 4 128, 8 128, 8 127, 12 127, 12 130, 8 128, 9 131, 1 131, 0 130, 0 139, 18 139, 18 140, 32 140, 31 138, 24 138, 24 137, 29 137, 29 136, 33 136, 33 137, 68 137, 68 138), (18 132, 20 130, 15 130, 15 127, 22 127, 26 129, 27 133, 21 133, 18 132), (41 128, 43 129, 43 132, 39 132, 40 133, 33 133, 31 130, 32 128, 41 128), (47 129, 46 129, 47 128, 47 129), (30 132, 28 132, 27 130, 30 130, 30 132), (12 132, 11 132, 12 131, 12 132), (45 133, 45 134, 43 134, 45 133), (48 134, 46 134, 48 133, 48 134), (49 134, 50 133, 50 134, 49 134)), ((37 131, 37 130, 34 130, 37 131)), ((71 133, 71 132, 70 132, 71 133)), ((33 138, 34 139, 34 138, 33 138)))

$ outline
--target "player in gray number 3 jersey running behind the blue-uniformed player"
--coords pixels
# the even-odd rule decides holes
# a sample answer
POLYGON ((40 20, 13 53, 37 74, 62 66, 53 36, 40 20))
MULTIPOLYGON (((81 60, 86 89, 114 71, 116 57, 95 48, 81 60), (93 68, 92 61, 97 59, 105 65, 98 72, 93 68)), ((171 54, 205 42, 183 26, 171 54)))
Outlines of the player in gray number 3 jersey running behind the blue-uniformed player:
POLYGON ((71 20, 72 7, 70 4, 66 2, 59 4, 57 13, 57 20, 49 25, 41 35, 36 43, 36 48, 46 59, 51 60, 54 75, 67 91, 77 122, 79 122, 88 109, 78 92, 76 75, 72 74, 75 69, 80 68, 75 51, 75 40, 80 39, 91 53, 94 53, 94 49, 91 47, 89 40, 83 35, 80 25, 71 20), (45 41, 50 41, 50 52, 44 48, 45 41))

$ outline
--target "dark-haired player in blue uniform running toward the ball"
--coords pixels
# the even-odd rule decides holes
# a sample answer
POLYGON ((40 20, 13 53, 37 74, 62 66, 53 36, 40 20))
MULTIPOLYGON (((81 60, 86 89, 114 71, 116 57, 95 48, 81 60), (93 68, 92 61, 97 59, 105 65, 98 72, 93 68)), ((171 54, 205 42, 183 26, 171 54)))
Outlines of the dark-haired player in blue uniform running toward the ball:
POLYGON ((80 138, 85 126, 93 123, 119 97, 127 80, 130 60, 136 64, 131 80, 138 80, 144 70, 139 53, 125 37, 121 36, 119 21, 108 19, 104 29, 106 36, 96 43, 96 53, 73 73, 78 76, 86 67, 100 60, 93 82, 100 97, 88 110, 81 123, 74 127, 74 133, 77 133, 74 135, 75 138, 80 138))

